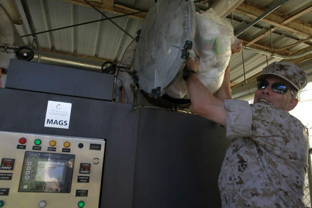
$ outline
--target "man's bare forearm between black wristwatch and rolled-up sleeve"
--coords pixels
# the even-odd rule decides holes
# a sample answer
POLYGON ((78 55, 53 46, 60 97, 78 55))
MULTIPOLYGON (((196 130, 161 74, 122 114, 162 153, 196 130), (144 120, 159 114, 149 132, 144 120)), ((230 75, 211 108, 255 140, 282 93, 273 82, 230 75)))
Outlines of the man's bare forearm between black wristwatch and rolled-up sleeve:
POLYGON ((226 109, 223 101, 215 98, 196 74, 186 80, 191 103, 195 111, 218 124, 226 125, 226 109))

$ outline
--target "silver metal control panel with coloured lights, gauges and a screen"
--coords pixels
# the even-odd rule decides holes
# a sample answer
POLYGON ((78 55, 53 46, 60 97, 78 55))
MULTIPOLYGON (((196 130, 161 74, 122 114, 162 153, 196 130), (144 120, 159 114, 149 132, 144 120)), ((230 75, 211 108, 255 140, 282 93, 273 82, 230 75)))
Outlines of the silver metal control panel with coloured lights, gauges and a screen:
POLYGON ((105 140, 0 131, 0 207, 98 207, 105 140))

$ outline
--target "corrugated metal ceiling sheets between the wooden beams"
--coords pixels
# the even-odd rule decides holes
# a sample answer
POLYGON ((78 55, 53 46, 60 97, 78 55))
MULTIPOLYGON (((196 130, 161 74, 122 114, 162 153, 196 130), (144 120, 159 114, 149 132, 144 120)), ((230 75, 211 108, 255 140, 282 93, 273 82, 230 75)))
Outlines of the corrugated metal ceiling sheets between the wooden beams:
MULTIPOLYGON (((257 4, 260 7, 270 8, 278 1, 279 0, 252 0, 248 2, 257 4)), ((21 3, 19 0, 14 0, 14 2, 16 3, 18 11, 24 22, 23 25, 17 25, 18 31, 20 35, 30 34, 30 29, 21 3)), ((103 18, 101 14, 92 8, 73 5, 60 0, 28 0, 27 2, 29 4, 29 9, 36 31, 44 31, 47 29, 54 29, 103 18)), ((148 9, 154 4, 154 0, 118 0, 118 3, 131 5, 136 8, 148 9)), ((311 5, 311 0, 289 0, 289 2, 279 7, 276 11, 291 16, 311 5)), ((116 14, 111 13, 105 14, 109 17, 116 16, 116 14)), ((237 20, 240 20, 234 20, 235 29, 241 28, 243 25, 252 20, 237 13, 234 13, 234 16, 237 20)), ((304 22, 312 23, 311 12, 301 16, 298 19, 304 22)), ((130 19, 128 17, 113 19, 113 21, 115 21, 133 37, 136 35, 136 31, 142 24, 142 20, 130 19)), ((244 32, 242 36, 250 40, 265 32, 269 27, 269 24, 260 22, 244 32)), ((51 33, 40 34, 38 35, 38 39, 42 48, 53 48, 57 51, 65 51, 117 61, 121 59, 123 52, 132 41, 132 38, 127 36, 107 20, 74 28, 58 30, 51 33)), ((32 38, 23 38, 23 40, 28 45, 32 44, 32 38)), ((295 43, 297 40, 299 40, 299 37, 290 32, 277 30, 273 33, 274 47, 283 47, 295 43)), ((270 42, 271 38, 270 35, 268 35, 257 43, 269 45, 270 42)), ((311 44, 312 41, 309 43, 311 44)), ((300 50, 307 46, 309 45, 303 43, 291 48, 290 50, 300 50)), ((247 50, 244 51, 244 60, 246 78, 260 72, 262 68, 267 65, 266 56, 247 50)), ((279 58, 268 57, 269 64, 273 61, 280 60, 281 59, 279 58)), ((239 83, 243 81, 244 76, 241 53, 235 54, 231 57, 230 66, 231 82, 239 83)))

